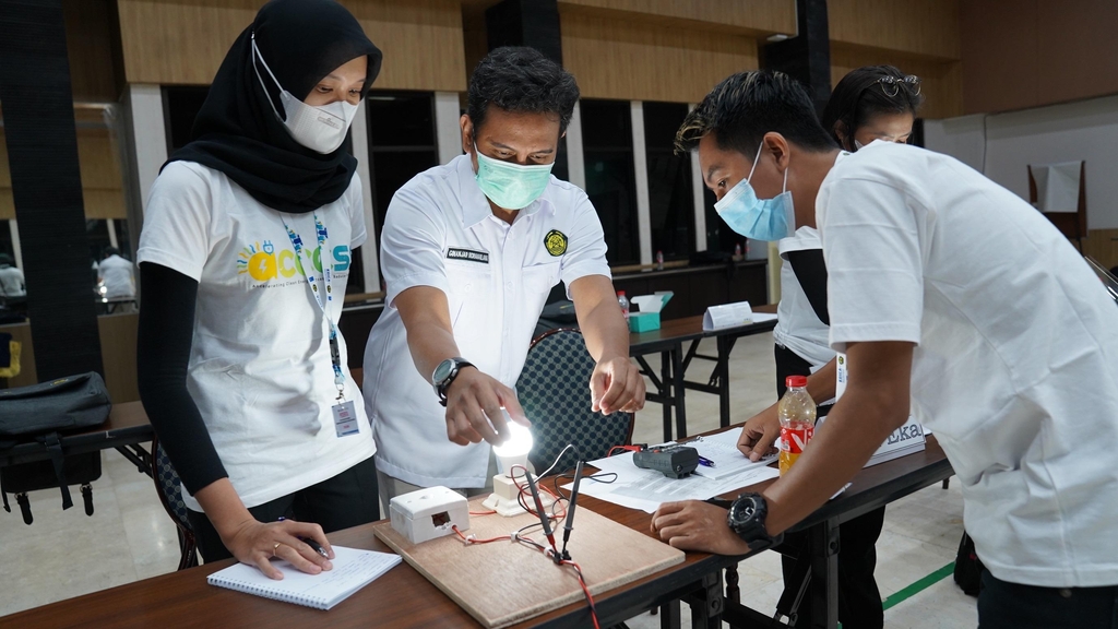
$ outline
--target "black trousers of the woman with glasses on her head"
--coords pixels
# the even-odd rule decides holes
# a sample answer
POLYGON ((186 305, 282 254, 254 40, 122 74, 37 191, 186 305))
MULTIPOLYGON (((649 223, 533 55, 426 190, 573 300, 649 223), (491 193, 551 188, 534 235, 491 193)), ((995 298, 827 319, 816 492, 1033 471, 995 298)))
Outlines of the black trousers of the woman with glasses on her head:
MULTIPOLYGON (((785 378, 811 374, 811 364, 785 347, 776 346, 777 395, 784 395, 785 378)), ((818 415, 824 416, 830 405, 821 406, 818 415)), ((885 508, 875 509, 839 526, 839 621, 844 629, 881 629, 884 611, 881 592, 873 579, 878 564, 875 544, 885 522, 885 508)), ((785 554, 780 561, 784 569, 785 588, 798 588, 790 583, 796 566, 796 557, 808 556, 812 548, 811 535, 806 532, 786 533, 784 544, 778 548, 785 554)), ((806 600, 805 600, 806 603, 806 600)), ((802 604, 796 627, 808 627, 812 622, 809 605, 802 604)))

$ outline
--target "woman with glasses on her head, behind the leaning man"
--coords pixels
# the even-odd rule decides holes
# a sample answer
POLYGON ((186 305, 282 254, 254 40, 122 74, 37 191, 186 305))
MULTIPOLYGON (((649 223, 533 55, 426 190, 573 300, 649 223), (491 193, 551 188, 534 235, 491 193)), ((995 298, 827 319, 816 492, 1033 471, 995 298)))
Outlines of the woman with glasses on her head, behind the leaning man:
MULTIPOLYGON (((835 86, 823 110, 823 128, 839 145, 855 152, 873 141, 908 143, 923 97, 920 79, 892 66, 869 66, 852 71, 835 86)), ((827 339, 827 270, 818 232, 799 227, 779 241, 779 320, 776 340, 777 398, 784 396, 788 376, 808 376, 807 391, 818 404, 818 416, 831 410, 835 395, 835 351, 827 339)), ((746 422, 738 448, 757 460, 768 452, 780 432, 777 405, 746 422)), ((846 629, 880 629, 884 622, 881 593, 873 579, 877 564, 874 544, 881 535, 884 507, 840 526, 839 620, 846 629)), ((785 534, 785 544, 798 556, 808 556, 808 535, 785 534)), ((796 560, 785 555, 785 588, 798 588, 796 560)), ((809 627, 811 608, 802 604, 795 627, 809 627)))

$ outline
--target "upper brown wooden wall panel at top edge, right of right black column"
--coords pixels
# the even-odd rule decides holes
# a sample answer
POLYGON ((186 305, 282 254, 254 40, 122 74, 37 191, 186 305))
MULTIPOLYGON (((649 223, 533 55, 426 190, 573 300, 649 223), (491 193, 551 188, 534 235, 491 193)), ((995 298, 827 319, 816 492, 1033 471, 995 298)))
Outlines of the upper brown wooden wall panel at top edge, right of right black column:
POLYGON ((827 2, 831 41, 959 59, 963 56, 960 1, 831 0, 827 2))

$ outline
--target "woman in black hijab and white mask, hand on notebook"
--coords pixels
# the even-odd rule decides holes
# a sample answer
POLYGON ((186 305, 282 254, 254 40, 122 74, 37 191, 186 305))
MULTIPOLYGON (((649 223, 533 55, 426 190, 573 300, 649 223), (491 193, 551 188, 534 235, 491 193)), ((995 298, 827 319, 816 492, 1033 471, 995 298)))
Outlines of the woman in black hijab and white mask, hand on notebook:
POLYGON ((349 125, 380 60, 333 0, 272 0, 152 187, 140 395, 207 562, 318 573, 330 562, 301 538, 333 556, 323 531, 376 514, 376 445, 337 323, 366 240, 349 125))

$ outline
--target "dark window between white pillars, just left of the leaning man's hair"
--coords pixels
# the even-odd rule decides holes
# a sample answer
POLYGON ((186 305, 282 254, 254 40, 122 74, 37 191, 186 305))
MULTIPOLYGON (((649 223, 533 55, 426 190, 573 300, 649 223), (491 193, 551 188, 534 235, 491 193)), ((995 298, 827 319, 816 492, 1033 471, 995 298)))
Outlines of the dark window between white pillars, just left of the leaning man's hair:
POLYGON ((663 252, 664 260, 686 260, 694 251, 691 153, 675 154, 674 147, 686 115, 682 103, 644 103, 652 251, 663 252))

